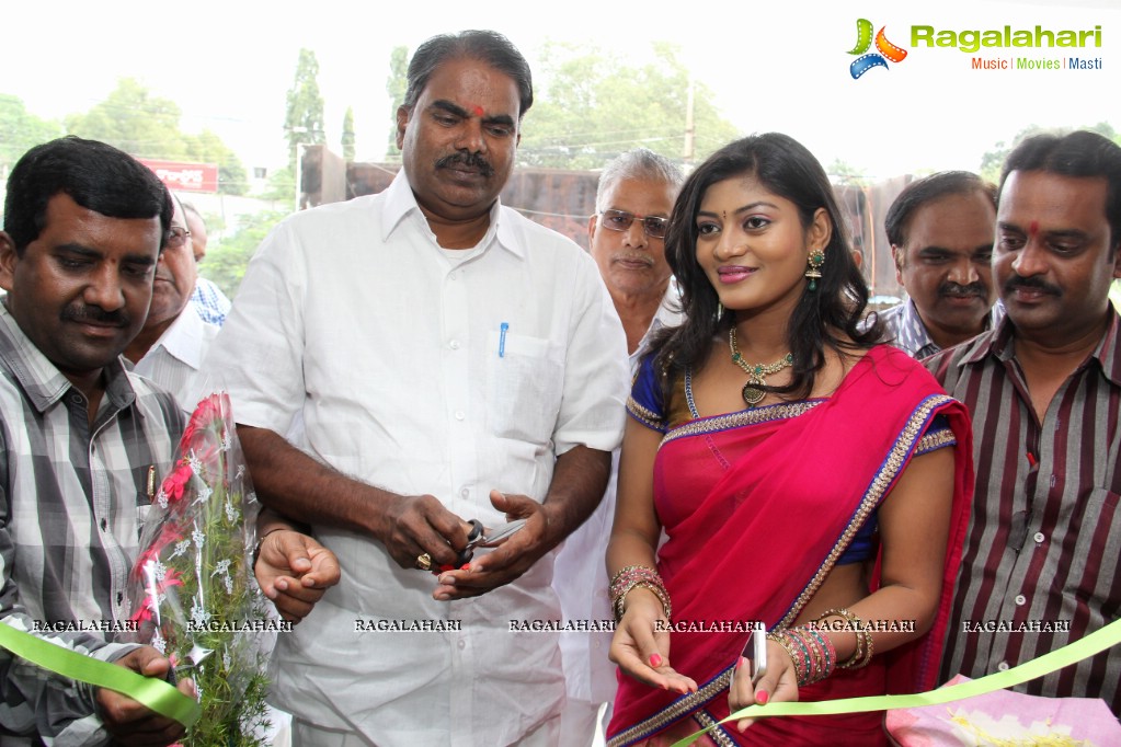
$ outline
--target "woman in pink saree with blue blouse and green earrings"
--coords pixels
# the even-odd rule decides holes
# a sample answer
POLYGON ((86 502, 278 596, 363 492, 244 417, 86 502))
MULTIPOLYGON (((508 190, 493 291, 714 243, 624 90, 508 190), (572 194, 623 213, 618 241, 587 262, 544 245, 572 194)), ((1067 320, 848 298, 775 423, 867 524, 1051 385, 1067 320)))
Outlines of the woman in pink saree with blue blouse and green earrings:
MULTIPOLYGON (((936 684, 970 423, 861 329, 843 226, 821 165, 777 133, 717 151, 678 197, 666 255, 686 321, 636 380, 608 549, 611 745, 668 745, 752 703, 936 684), (771 632, 754 682, 753 622, 771 632)), ((886 743, 881 721, 765 718, 702 744, 863 747, 886 743)))

